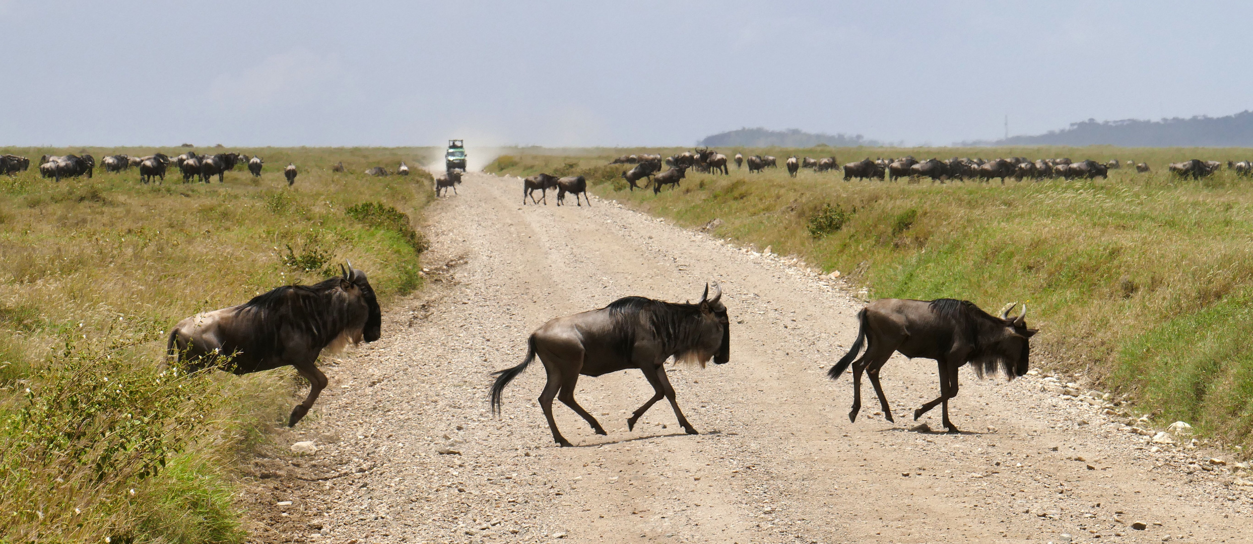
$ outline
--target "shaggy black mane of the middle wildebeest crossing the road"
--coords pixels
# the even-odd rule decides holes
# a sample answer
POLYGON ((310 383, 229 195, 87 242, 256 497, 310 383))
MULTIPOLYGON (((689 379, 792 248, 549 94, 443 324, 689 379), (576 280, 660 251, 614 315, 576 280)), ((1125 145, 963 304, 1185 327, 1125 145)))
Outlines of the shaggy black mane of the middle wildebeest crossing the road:
MULTIPOLYGON (((635 346, 637 325, 647 325, 660 342, 662 350, 683 358, 688 347, 697 341, 700 315, 699 305, 657 301, 647 297, 623 297, 605 306, 618 335, 614 347, 632 357, 635 346)), ((700 361, 702 364, 704 361, 700 361)))

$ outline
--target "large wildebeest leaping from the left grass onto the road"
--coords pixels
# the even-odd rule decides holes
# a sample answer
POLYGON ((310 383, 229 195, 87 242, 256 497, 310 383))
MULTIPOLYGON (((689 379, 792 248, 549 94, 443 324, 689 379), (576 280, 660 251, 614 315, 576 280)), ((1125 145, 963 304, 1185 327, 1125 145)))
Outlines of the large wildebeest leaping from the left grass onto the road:
POLYGON ((223 370, 244 375, 294 366, 309 381, 309 395, 287 419, 296 426, 327 385, 317 369, 318 355, 338 352, 348 342, 373 342, 381 325, 375 290, 350 263, 341 277, 278 287, 244 305, 179 321, 169 332, 167 352, 188 371, 224 364, 223 370))

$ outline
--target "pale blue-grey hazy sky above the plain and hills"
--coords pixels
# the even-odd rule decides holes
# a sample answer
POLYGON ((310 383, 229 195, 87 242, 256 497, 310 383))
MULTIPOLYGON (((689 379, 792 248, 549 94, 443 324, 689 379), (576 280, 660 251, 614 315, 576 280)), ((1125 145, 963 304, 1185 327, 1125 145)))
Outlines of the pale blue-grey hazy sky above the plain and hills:
POLYGON ((1248 3, 0 0, 0 145, 947 145, 1253 108, 1248 3))

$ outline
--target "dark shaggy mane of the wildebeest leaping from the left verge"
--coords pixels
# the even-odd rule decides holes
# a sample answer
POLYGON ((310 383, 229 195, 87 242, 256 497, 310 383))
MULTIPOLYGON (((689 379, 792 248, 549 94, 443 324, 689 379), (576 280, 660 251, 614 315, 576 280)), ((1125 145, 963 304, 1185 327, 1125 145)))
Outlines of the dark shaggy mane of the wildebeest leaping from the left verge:
POLYGON ((257 360, 282 356, 283 328, 308 335, 316 346, 330 345, 348 325, 346 312, 328 311, 341 281, 276 287, 239 306, 236 315, 251 320, 257 332, 253 346, 239 347, 257 360))

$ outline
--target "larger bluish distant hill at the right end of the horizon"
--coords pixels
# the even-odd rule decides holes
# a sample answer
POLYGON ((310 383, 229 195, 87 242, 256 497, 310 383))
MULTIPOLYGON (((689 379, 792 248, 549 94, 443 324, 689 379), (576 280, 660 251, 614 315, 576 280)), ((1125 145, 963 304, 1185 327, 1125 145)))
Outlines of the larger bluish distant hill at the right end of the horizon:
MULTIPOLYGON (((964 142, 965 145, 1124 145, 1143 148, 1253 147, 1253 112, 1227 117, 1197 115, 1190 119, 1106 120, 1071 123, 1070 128, 1040 135, 1010 137, 1001 140, 964 142)), ((959 145, 962 145, 959 144, 959 145)))

